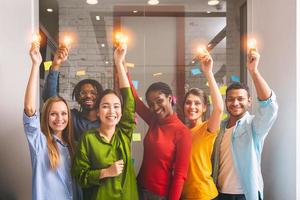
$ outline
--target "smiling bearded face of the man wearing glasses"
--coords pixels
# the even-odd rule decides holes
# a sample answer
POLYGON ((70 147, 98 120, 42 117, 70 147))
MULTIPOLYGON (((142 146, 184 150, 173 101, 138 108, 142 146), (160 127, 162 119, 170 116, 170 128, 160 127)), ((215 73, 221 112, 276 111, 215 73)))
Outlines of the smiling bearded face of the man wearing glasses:
POLYGON ((97 90, 91 84, 84 84, 79 93, 78 103, 83 111, 91 111, 96 109, 97 90))

